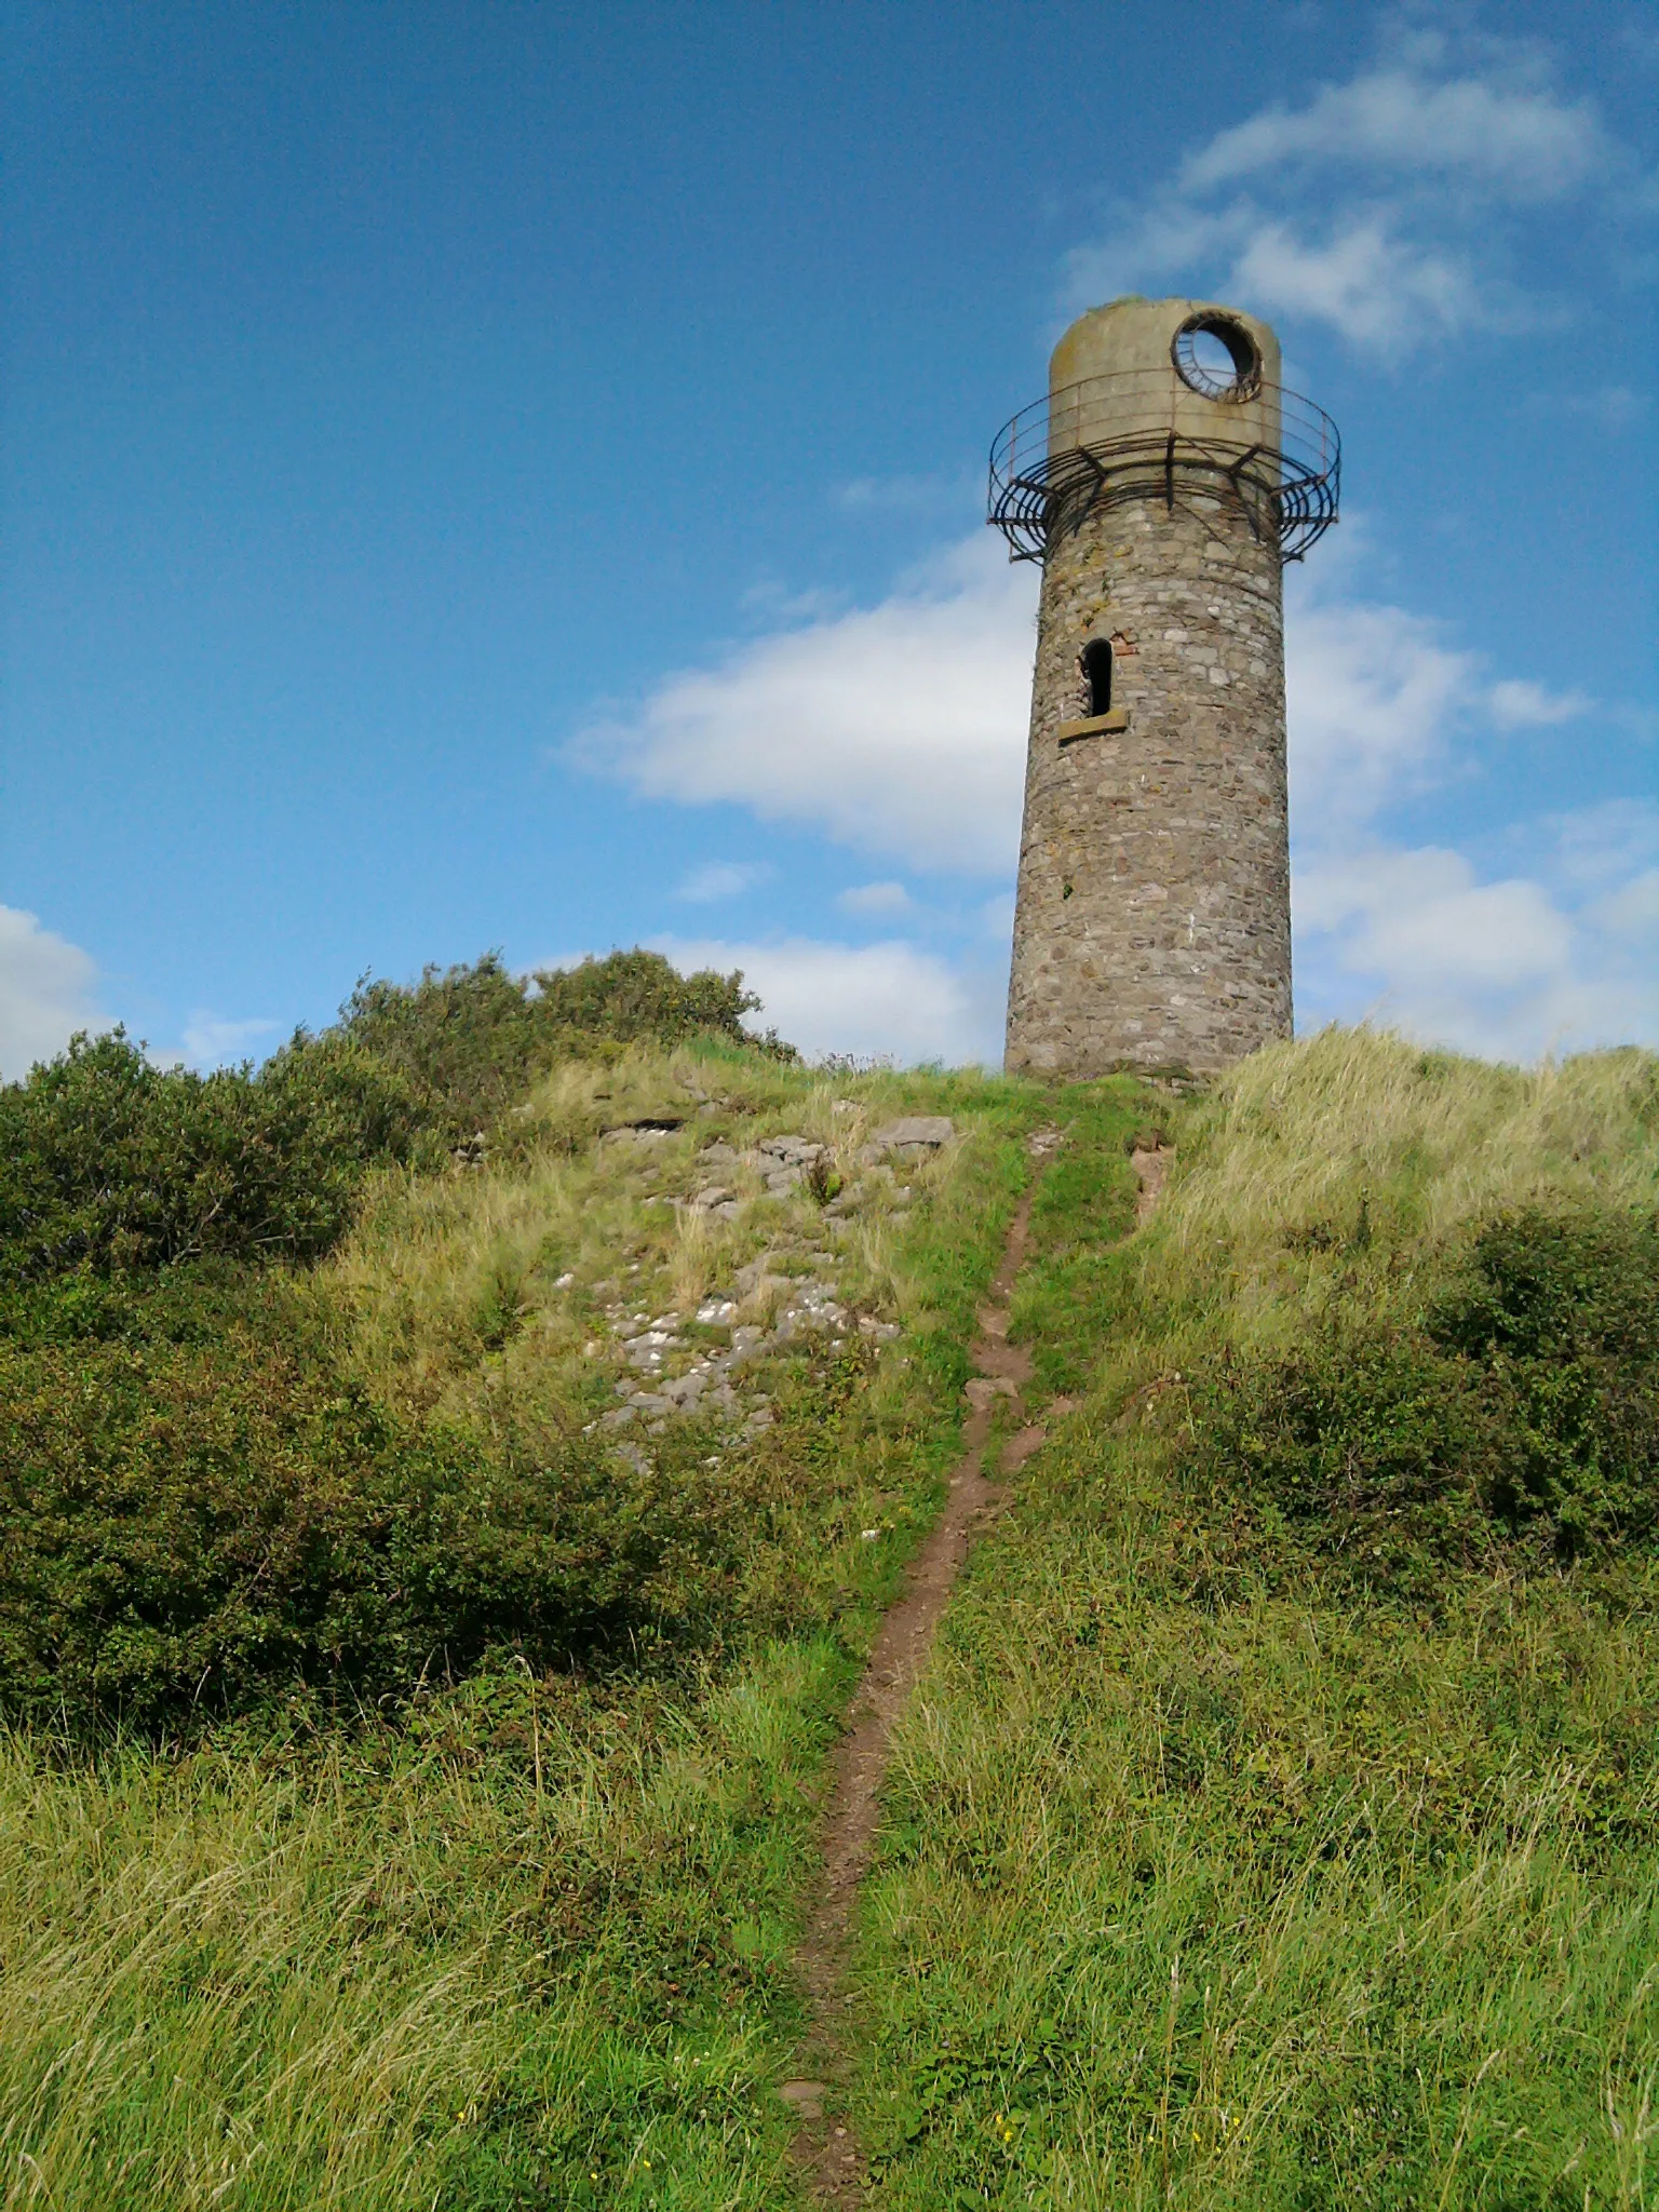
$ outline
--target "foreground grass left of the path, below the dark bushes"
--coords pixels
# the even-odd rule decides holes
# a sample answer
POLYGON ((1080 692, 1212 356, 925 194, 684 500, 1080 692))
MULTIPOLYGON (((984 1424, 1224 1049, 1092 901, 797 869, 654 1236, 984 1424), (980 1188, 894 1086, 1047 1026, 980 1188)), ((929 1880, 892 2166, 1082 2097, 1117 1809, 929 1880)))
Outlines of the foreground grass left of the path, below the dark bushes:
POLYGON ((847 1672, 818 1639, 697 1699, 500 1674, 400 1734, 9 1743, 9 2201, 765 2203, 847 1672))

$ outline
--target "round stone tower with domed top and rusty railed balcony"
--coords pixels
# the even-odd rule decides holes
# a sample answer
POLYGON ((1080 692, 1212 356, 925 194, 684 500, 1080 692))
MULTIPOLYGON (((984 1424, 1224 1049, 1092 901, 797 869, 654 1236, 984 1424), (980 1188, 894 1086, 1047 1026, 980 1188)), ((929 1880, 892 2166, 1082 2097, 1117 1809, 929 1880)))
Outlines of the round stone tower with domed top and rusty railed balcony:
POLYGON ((1272 330, 1190 299, 1084 314, 991 449, 991 522, 1042 562, 1011 1073, 1290 1035, 1283 562, 1338 480, 1272 330))

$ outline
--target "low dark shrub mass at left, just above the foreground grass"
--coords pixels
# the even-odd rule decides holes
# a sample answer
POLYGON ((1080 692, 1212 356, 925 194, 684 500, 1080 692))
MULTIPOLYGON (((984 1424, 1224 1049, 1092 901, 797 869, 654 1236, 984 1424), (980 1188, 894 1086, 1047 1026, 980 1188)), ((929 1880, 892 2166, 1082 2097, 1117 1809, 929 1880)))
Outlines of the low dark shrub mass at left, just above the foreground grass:
POLYGON ((7 1714, 177 1728, 303 1681, 405 1697, 491 1646, 564 1666, 719 1608, 741 1484, 394 1413, 296 1290, 265 1294, 288 1314, 217 1316, 206 1343, 0 1343, 7 1714))

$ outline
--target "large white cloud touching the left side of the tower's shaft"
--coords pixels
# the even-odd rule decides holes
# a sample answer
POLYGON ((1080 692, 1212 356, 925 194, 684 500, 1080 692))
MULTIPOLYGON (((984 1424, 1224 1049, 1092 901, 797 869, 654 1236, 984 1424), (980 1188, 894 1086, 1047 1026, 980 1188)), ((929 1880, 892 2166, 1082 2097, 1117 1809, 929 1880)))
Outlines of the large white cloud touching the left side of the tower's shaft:
POLYGON ((737 801, 911 867, 1004 874, 1035 588, 980 531, 878 606, 666 677, 571 752, 648 799, 737 801))

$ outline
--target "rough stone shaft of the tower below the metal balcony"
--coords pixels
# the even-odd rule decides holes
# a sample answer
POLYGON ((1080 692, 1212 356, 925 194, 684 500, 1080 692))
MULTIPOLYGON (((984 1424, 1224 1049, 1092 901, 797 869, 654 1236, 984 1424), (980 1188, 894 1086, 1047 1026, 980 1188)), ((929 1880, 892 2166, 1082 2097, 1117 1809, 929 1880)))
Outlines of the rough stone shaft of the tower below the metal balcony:
POLYGON ((1097 509, 1042 580, 1006 1066, 1210 1073, 1287 1035, 1279 549, 1230 500, 1097 509), (1128 728, 1062 743, 1088 637, 1128 728))

